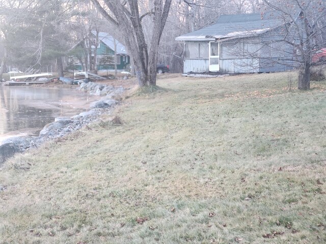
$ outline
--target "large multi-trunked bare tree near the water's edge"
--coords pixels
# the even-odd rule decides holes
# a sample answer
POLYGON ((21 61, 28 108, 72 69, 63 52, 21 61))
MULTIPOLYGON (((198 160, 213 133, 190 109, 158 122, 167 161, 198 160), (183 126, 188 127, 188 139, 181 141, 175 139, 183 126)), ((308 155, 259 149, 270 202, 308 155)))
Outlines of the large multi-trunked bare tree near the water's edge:
POLYGON ((159 41, 168 18, 172 0, 154 0, 147 12, 140 12, 139 1, 92 0, 105 19, 124 33, 124 43, 133 58, 133 66, 140 87, 156 85, 156 65, 159 41), (146 42, 142 20, 153 20, 152 36, 146 42))

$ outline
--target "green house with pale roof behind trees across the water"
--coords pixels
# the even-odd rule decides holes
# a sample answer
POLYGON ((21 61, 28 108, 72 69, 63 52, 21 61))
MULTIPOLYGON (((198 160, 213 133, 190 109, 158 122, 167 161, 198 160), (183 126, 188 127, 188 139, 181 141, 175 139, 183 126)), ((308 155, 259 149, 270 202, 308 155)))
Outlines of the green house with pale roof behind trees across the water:
POLYGON ((92 33, 91 38, 79 42, 72 50, 69 63, 73 65, 73 69, 90 70, 90 64, 94 63, 94 54, 96 51, 97 70, 114 70, 115 45, 117 50, 117 69, 126 69, 127 65, 130 64, 130 56, 127 54, 125 46, 109 34, 100 32, 98 34, 98 44, 97 47, 95 47, 96 36, 94 34, 95 33, 92 33))

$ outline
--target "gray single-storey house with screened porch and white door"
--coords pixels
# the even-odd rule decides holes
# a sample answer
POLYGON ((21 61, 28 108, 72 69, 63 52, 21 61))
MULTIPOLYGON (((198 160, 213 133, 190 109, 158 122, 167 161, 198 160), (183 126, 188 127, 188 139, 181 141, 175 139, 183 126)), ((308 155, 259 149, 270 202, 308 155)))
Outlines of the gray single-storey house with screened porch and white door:
POLYGON ((296 51, 275 12, 222 15, 216 23, 176 38, 183 41, 183 73, 256 73, 292 69, 296 51))

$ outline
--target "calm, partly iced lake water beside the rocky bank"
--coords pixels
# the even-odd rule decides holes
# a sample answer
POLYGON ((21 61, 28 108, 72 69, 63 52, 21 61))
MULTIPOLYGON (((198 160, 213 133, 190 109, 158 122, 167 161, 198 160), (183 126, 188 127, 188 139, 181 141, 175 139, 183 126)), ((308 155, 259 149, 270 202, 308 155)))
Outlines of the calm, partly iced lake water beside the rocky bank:
POLYGON ((38 135, 56 117, 89 108, 94 96, 67 88, 0 85, 0 143, 13 135, 38 135))

